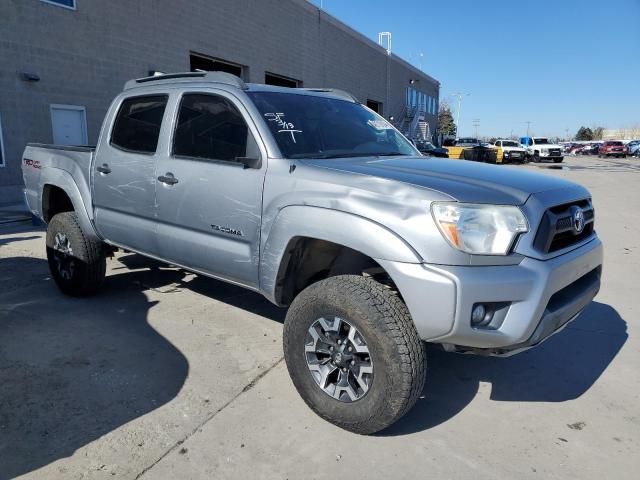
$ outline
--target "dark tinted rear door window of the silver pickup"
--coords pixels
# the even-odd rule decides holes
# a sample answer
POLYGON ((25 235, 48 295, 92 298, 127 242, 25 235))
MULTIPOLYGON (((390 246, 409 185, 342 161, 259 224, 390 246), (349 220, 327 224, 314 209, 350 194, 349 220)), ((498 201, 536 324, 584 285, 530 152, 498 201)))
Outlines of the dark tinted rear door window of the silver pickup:
POLYGON ((118 111, 111 145, 129 152, 155 153, 167 95, 127 98, 118 111))

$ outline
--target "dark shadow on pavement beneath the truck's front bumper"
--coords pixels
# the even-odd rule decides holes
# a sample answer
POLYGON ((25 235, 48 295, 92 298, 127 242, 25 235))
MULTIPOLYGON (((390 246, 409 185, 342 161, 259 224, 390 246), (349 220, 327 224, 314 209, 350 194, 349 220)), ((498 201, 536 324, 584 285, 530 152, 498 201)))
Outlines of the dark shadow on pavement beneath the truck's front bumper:
POLYGON ((562 332, 513 357, 460 355, 430 346, 423 397, 381 435, 405 435, 449 420, 473 401, 480 382, 491 383, 495 401, 574 400, 604 373, 627 338, 627 323, 618 312, 593 302, 562 332))

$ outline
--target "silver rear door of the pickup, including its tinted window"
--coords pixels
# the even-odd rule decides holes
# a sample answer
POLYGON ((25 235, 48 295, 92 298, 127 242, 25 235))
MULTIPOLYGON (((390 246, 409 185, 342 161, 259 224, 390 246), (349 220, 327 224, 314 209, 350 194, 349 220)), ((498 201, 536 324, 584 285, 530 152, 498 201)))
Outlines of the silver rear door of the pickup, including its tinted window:
POLYGON ((111 109, 93 165, 93 199, 98 232, 110 242, 158 254, 156 162, 169 96, 120 98, 111 109))

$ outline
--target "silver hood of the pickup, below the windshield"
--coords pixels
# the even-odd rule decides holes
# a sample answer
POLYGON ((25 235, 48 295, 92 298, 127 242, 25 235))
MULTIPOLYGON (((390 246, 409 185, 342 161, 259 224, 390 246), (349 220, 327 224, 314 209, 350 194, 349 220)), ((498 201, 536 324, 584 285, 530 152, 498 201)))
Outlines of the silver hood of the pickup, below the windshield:
MULTIPOLYGON (((522 205, 535 193, 581 189, 560 178, 525 171, 522 167, 488 165, 466 160, 427 157, 363 157, 303 160, 305 165, 368 175, 428 188, 469 203, 522 205)), ((582 192, 580 192, 582 195, 582 192)))

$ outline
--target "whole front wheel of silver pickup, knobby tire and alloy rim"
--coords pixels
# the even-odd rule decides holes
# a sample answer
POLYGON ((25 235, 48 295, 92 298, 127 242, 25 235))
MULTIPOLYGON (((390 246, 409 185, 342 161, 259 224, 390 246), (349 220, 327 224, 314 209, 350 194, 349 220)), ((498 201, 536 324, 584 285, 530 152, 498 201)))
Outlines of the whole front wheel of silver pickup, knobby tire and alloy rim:
POLYGON ((366 277, 332 277, 303 290, 287 312, 284 356, 307 405, 355 433, 392 425, 424 386, 424 344, 406 305, 366 277))

